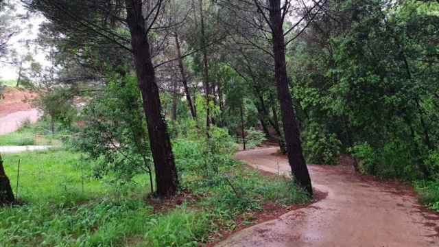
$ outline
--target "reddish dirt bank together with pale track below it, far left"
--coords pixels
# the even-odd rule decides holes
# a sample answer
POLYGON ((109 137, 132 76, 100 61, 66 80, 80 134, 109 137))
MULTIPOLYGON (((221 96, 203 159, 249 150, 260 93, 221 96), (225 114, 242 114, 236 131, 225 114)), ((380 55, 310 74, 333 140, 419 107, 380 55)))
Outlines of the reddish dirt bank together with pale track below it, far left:
POLYGON ((40 114, 32 108, 29 99, 36 95, 18 89, 6 89, 5 99, 0 100, 0 134, 19 129, 23 121, 36 122, 40 114))

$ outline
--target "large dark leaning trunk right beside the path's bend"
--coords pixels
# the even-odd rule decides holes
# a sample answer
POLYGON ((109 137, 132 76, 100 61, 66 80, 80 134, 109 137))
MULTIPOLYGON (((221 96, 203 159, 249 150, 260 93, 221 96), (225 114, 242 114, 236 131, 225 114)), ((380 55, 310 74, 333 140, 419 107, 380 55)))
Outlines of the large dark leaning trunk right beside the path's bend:
POLYGON ((285 62, 285 38, 282 28, 281 0, 270 0, 270 22, 272 25, 274 76, 276 77, 278 99, 281 104, 288 161, 296 183, 312 196, 311 178, 309 177, 307 164, 303 156, 300 133, 296 123, 296 114, 294 113, 292 97, 289 93, 285 62))

